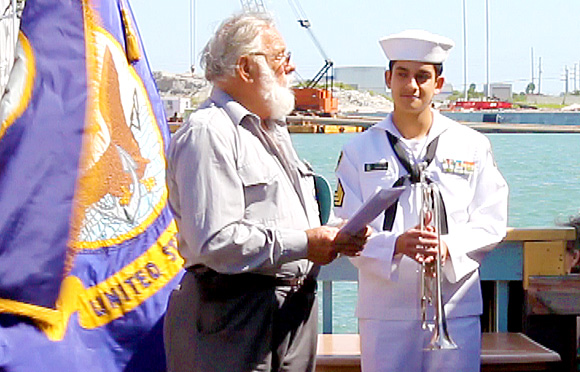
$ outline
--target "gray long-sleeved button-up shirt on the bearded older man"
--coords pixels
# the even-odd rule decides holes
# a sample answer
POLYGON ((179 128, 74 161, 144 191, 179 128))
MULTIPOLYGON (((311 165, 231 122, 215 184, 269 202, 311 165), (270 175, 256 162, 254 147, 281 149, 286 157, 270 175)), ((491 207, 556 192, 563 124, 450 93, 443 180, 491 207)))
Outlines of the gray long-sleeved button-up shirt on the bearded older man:
POLYGON ((169 203, 186 267, 307 273, 305 230, 320 224, 312 176, 284 125, 263 129, 256 115, 214 88, 169 148, 169 203))

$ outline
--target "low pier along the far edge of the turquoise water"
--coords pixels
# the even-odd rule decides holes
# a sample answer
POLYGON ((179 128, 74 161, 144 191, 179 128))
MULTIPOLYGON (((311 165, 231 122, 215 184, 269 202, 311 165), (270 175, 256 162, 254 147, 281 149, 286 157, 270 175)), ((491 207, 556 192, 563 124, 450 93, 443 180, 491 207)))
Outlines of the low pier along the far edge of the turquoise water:
MULTIPOLYGON (((289 116, 286 122, 290 133, 350 133, 363 132, 381 119, 371 116, 289 116)), ((460 123, 482 133, 580 133, 580 125, 570 124, 460 123)))

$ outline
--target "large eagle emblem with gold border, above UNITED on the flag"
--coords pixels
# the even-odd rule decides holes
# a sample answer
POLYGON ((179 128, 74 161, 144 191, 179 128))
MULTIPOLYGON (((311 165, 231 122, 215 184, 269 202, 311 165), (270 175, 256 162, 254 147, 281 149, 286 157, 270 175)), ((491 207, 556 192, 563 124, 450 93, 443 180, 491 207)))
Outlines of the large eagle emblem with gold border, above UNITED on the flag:
POLYGON ((145 229, 166 203, 163 138, 140 77, 125 51, 95 33, 97 102, 89 113, 87 154, 72 245, 119 244, 145 229))

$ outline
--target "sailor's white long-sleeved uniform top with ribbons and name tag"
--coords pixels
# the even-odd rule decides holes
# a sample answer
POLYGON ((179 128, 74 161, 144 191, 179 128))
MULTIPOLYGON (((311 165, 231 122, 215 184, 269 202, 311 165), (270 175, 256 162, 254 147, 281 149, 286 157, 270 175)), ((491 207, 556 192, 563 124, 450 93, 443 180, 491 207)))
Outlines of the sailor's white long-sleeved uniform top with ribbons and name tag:
MULTIPOLYGON (((401 138, 391 115, 343 147, 336 170, 338 217, 350 217, 378 187, 389 188, 407 174, 389 144, 386 131, 401 138)), ((508 187, 495 165, 489 140, 436 111, 417 160, 425 156, 427 145, 437 136, 435 158, 426 175, 439 186, 447 211, 449 233, 442 239, 447 243, 449 256, 443 267, 443 301, 447 318, 453 321, 482 313, 478 268, 484 254, 506 234, 508 187)), ((411 149, 406 149, 411 153, 411 149)), ((382 231, 384 215, 377 217, 371 223, 375 232, 361 256, 352 259, 359 270, 356 316, 361 321, 420 319, 420 265, 407 256, 394 256, 397 237, 419 223, 419 185, 409 186, 408 182, 406 185, 392 231, 382 231)), ((384 331, 376 326, 365 329, 384 331)), ((364 363, 362 331, 363 327, 364 363)), ((413 337, 410 333, 398 337, 405 335, 413 337)), ((377 353, 389 352, 389 345, 382 348, 377 353)))

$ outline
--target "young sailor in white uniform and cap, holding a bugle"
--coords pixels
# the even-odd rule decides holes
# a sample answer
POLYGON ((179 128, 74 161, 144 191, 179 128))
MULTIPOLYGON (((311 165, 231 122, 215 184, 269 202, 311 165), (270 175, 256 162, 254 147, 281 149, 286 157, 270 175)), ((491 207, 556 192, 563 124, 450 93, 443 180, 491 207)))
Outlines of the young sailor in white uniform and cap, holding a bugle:
POLYGON ((352 260, 359 269, 362 369, 479 371, 478 268, 484 253, 506 234, 508 186, 488 139, 431 108, 453 42, 413 30, 380 44, 391 61, 385 78, 394 111, 344 146, 336 170, 335 213, 343 218, 351 217, 377 188, 407 186, 394 208, 372 222, 375 233, 352 260), (432 230, 419 228, 416 165, 421 162, 428 163, 427 182, 440 189, 447 220, 440 247, 442 292, 456 350, 425 350, 431 332, 421 327, 420 262, 433 259, 438 240, 432 230))

